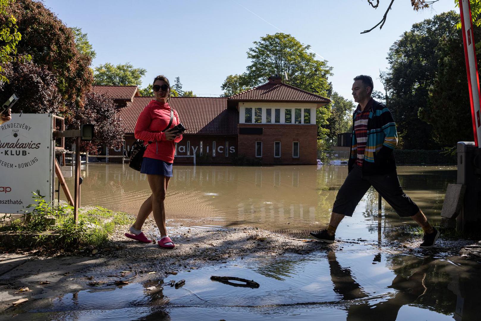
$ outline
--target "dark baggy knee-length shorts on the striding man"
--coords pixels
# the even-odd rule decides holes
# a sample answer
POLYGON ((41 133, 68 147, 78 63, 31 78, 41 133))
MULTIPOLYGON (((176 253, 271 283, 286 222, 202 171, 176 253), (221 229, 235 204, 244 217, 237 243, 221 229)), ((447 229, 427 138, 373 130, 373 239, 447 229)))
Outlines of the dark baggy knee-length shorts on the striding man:
POLYGON ((362 169, 355 165, 337 193, 332 212, 353 216, 354 209, 371 186, 381 194, 399 216, 408 217, 419 212, 418 205, 403 192, 395 170, 387 175, 363 177, 362 169))

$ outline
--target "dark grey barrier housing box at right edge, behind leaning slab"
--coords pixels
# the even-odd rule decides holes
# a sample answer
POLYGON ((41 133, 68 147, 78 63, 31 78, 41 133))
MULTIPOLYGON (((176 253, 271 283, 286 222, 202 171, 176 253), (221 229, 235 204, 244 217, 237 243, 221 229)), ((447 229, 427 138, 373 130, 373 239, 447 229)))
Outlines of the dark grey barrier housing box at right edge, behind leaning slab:
POLYGON ((473 141, 457 143, 457 183, 466 185, 457 230, 478 234, 481 229, 481 148, 473 141))

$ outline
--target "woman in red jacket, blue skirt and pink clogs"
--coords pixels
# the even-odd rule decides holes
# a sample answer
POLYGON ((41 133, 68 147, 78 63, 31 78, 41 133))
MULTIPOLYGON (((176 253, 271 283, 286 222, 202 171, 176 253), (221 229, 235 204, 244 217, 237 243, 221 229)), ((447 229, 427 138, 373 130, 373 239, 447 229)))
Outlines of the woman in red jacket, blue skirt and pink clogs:
POLYGON ((160 247, 174 248, 174 243, 167 234, 165 226, 165 192, 172 177, 172 162, 174 161, 175 143, 182 140, 182 135, 174 126, 180 123, 177 112, 168 101, 170 99, 170 83, 165 76, 157 76, 153 81, 155 100, 152 100, 140 113, 135 126, 136 139, 149 143, 144 153, 140 173, 147 174, 147 180, 152 194, 140 206, 137 219, 130 227, 128 238, 143 243, 151 243, 144 233, 142 225, 153 213, 155 223, 159 228, 161 239, 157 241, 160 247))

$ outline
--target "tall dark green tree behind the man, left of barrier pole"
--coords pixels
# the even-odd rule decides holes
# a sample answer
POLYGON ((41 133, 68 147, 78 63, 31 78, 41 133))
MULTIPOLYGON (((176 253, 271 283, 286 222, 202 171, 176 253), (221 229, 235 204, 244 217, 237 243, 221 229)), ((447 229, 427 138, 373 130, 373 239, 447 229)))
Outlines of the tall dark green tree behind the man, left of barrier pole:
MULTIPOLYGON (((444 59, 446 39, 460 39, 460 30, 454 27, 458 19, 459 15, 451 11, 414 24, 411 30, 394 42, 388 52, 390 69, 385 80, 389 107, 399 132, 400 147, 440 147, 432 139, 432 125, 425 121, 427 118, 420 119, 418 113, 421 107, 428 105, 430 88, 439 72, 439 64, 444 59)), ((458 42, 458 48, 462 50, 462 41, 458 42)), ((460 61, 464 61, 462 56, 460 61)), ((465 68, 459 69, 458 73, 466 76, 465 68)), ((467 86, 463 88, 456 85, 453 88, 461 92, 467 90, 467 86)), ((439 108, 451 108, 446 103, 443 106, 445 107, 439 108)))

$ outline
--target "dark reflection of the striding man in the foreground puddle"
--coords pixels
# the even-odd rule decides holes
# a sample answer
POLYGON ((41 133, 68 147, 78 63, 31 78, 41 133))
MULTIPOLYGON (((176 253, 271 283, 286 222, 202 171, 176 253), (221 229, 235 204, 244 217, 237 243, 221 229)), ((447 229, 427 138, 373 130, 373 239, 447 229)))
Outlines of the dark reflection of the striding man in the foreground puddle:
MULTIPOLYGON (((355 281, 352 271, 342 268, 336 260, 334 251, 328 253, 328 259, 331 280, 334 283, 334 292, 342 295, 343 300, 362 299, 368 296, 359 283, 355 281)), ((423 264, 411 276, 405 278, 401 275, 396 275, 392 281, 392 285, 389 286, 390 288, 398 290, 394 296, 374 305, 370 305, 369 302, 353 304, 349 306, 347 310, 346 320, 396 320, 399 309, 402 306, 413 303, 419 296, 426 292, 424 279, 428 268, 429 262, 426 262, 425 259, 423 264)))

